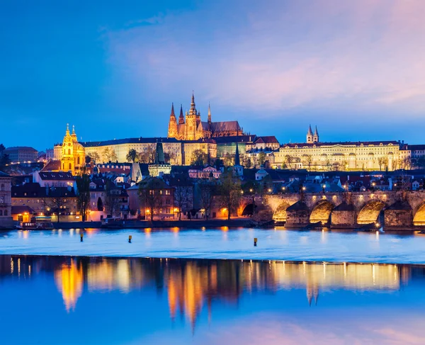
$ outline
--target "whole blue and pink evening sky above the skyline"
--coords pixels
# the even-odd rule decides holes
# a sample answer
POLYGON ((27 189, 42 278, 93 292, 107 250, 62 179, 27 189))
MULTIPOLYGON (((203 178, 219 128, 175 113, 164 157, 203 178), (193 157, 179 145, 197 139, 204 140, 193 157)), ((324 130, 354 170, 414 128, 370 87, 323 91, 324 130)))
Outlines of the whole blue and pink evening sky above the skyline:
POLYGON ((0 4, 0 142, 166 136, 171 102, 304 142, 425 143, 425 1, 0 4))

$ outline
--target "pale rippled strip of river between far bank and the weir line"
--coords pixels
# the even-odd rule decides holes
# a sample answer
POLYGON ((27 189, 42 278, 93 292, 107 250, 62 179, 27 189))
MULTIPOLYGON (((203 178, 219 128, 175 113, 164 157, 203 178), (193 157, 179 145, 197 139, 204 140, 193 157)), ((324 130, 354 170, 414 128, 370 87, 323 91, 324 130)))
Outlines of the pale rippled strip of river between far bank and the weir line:
POLYGON ((0 232, 0 254, 425 264, 425 235, 254 229, 0 232), (128 236, 132 243, 128 243, 128 236), (254 247, 254 238, 258 239, 254 247))

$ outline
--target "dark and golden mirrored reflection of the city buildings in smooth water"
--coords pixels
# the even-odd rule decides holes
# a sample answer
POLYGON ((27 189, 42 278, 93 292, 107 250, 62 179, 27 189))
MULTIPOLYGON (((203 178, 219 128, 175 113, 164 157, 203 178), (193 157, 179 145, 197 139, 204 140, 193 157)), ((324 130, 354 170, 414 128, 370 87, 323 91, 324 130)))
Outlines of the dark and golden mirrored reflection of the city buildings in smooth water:
POLYGON ((182 315, 193 329, 203 309, 210 315, 214 300, 237 304, 244 293, 302 288, 311 305, 324 291, 395 291, 425 274, 422 266, 385 264, 0 256, 0 280, 42 272, 52 273, 67 312, 78 308, 84 293, 129 293, 152 285, 166 291, 169 317, 182 315))

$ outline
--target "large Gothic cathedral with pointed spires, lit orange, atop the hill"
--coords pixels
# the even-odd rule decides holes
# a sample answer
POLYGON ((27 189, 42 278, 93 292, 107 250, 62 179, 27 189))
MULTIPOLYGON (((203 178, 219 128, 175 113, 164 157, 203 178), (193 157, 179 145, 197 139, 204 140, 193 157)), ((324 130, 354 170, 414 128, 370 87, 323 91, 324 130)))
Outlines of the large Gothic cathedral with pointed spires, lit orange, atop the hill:
POLYGON ((198 140, 213 137, 234 137, 244 135, 237 121, 212 122, 211 109, 208 106, 208 121, 200 120, 200 111, 196 110, 195 97, 192 94, 191 110, 183 116, 183 106, 180 106, 179 121, 174 113, 174 104, 171 105, 168 137, 177 140, 198 140))

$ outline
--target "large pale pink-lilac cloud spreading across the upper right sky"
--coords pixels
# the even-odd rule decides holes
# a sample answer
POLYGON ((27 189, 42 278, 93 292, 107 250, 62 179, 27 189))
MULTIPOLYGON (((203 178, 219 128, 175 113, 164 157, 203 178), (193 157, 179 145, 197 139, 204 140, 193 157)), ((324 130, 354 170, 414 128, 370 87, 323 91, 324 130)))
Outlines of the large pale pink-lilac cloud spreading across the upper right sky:
POLYGON ((132 86, 239 109, 425 110, 424 1, 217 4, 108 32, 111 64, 132 86))

